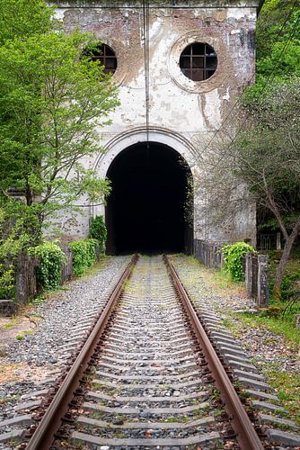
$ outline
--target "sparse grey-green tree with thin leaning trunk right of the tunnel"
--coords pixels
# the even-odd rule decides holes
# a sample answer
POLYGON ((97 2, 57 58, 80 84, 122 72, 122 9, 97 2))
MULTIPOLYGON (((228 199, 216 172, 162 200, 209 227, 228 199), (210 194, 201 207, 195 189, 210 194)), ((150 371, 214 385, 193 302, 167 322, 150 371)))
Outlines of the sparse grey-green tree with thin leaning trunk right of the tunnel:
POLYGON ((248 93, 241 114, 247 120, 239 133, 222 130, 202 156, 208 170, 199 184, 215 226, 251 200, 271 211, 285 239, 273 291, 278 298, 300 229, 300 77, 274 82, 260 97, 248 93))

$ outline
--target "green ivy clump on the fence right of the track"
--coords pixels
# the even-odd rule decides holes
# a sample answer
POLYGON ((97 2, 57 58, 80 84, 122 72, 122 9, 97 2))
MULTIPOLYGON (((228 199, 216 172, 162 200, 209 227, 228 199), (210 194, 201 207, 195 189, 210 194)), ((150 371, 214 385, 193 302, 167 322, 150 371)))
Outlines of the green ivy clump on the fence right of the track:
POLYGON ((247 253, 256 253, 254 248, 245 242, 236 242, 222 247, 225 271, 228 272, 234 281, 243 280, 243 257, 247 253))

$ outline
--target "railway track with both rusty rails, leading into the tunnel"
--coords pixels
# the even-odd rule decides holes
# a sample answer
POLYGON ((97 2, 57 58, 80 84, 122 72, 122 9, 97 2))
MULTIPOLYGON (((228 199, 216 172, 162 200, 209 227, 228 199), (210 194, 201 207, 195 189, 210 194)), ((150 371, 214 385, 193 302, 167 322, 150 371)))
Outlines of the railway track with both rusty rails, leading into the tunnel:
POLYGON ((268 447, 167 257, 133 257, 52 397, 22 448, 268 447))

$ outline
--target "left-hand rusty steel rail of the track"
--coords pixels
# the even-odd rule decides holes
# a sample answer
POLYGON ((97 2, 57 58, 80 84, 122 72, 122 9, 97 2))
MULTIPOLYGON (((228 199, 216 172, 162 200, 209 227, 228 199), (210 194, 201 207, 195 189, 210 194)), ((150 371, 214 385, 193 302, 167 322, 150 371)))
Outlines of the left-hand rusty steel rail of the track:
POLYGON ((75 363, 69 370, 63 383, 60 385, 55 397, 51 401, 48 410, 40 420, 38 428, 31 437, 27 450, 48 450, 53 443, 55 433, 60 427, 61 421, 68 410, 68 404, 73 399, 76 389, 78 389, 80 380, 84 375, 95 347, 99 343, 101 334, 103 333, 107 322, 110 320, 111 312, 113 311, 119 296, 123 291, 123 284, 128 280, 132 273, 134 266, 137 263, 137 255, 132 257, 130 263, 125 269, 123 275, 120 277, 118 284, 110 295, 110 300, 107 302, 104 310, 101 313, 99 320, 84 343, 79 355, 75 359, 75 363))

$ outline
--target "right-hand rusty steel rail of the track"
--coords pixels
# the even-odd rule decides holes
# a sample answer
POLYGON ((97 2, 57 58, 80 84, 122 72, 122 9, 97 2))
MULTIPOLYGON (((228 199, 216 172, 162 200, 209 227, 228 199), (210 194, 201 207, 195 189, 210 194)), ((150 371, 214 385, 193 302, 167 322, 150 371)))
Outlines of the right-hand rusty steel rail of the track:
POLYGON ((206 358, 207 365, 215 380, 216 388, 220 391, 221 398, 225 403, 225 408, 230 416, 234 431, 237 434, 239 445, 243 450, 262 450, 264 447, 261 444, 260 437, 257 435, 251 420, 244 410, 243 404, 235 392, 233 384, 229 380, 228 375, 225 373, 225 368, 216 355, 216 351, 209 341, 207 333, 202 327, 199 318, 197 317, 197 313, 190 302, 188 294, 185 292, 185 289, 181 284, 181 280, 177 275, 176 270, 172 266, 172 263, 168 257, 164 255, 163 258, 170 271, 172 283, 174 284, 175 289, 181 298, 184 309, 187 311, 190 318, 193 330, 206 358))

